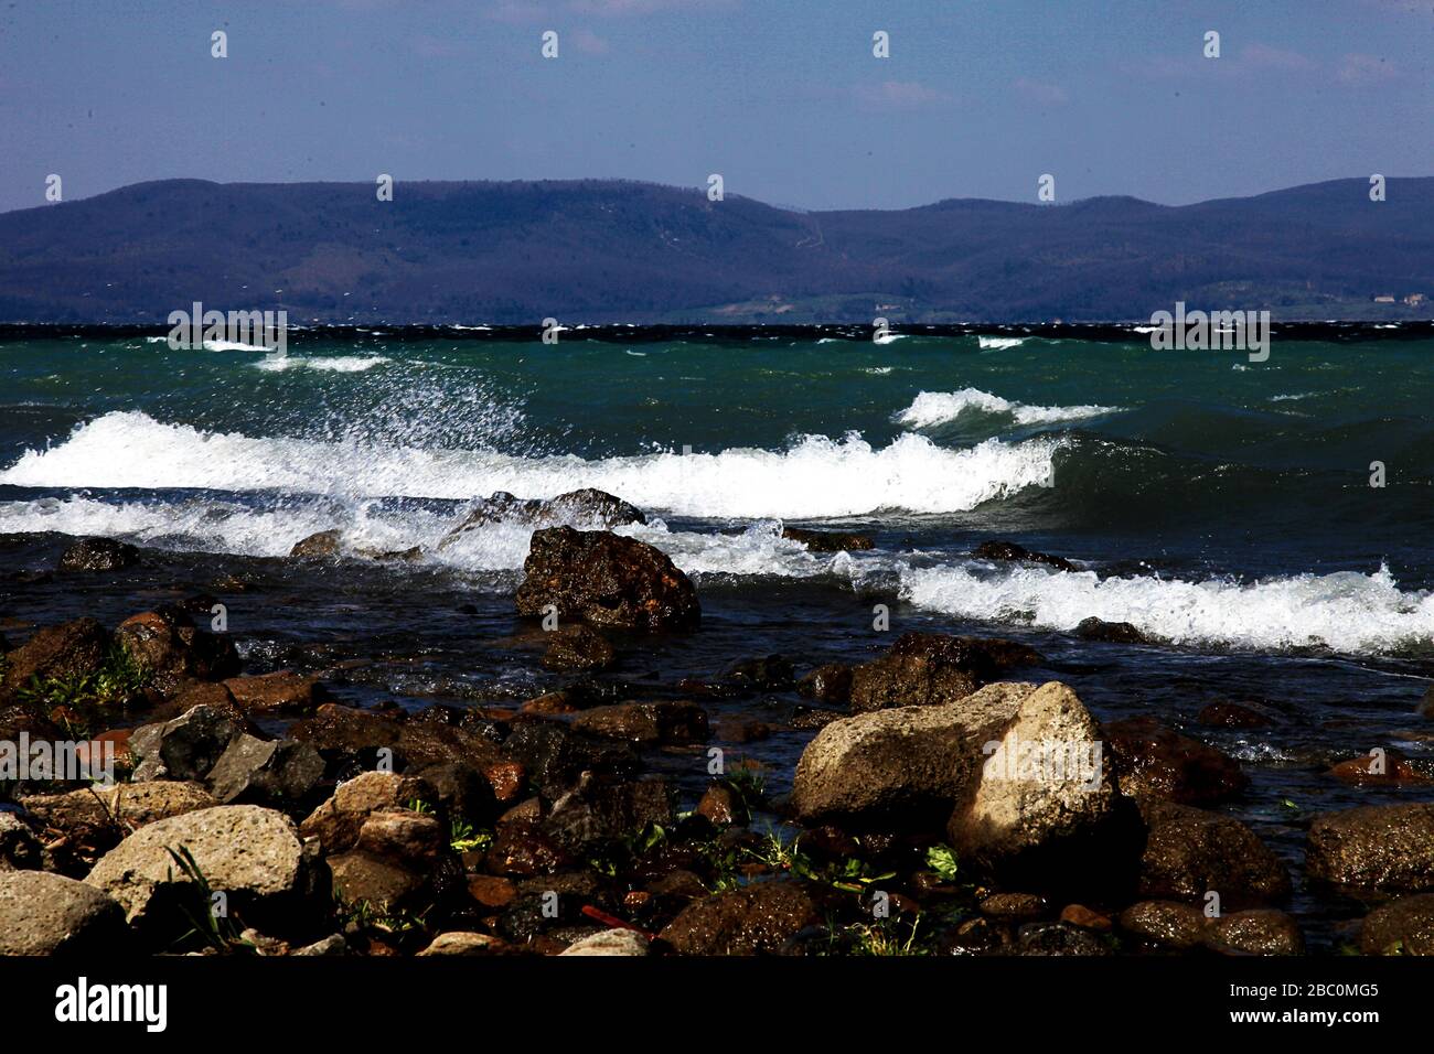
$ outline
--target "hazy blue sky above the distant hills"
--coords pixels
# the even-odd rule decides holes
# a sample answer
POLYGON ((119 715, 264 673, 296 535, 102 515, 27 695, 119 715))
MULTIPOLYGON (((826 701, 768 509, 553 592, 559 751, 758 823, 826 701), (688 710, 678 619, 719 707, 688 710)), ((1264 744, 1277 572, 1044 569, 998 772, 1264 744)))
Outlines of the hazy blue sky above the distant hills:
POLYGON ((0 211, 52 174, 720 174, 825 209, 1377 172, 1434 175, 1434 0, 0 0, 0 211))

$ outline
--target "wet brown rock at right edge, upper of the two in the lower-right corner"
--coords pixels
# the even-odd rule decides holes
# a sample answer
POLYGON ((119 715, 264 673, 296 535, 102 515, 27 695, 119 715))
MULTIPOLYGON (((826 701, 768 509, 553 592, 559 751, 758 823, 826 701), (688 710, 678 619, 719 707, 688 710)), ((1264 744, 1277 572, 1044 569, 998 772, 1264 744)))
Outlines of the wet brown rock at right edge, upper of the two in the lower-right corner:
POLYGON ((1322 813, 1309 825, 1305 873, 1351 892, 1434 889, 1434 804, 1322 813))

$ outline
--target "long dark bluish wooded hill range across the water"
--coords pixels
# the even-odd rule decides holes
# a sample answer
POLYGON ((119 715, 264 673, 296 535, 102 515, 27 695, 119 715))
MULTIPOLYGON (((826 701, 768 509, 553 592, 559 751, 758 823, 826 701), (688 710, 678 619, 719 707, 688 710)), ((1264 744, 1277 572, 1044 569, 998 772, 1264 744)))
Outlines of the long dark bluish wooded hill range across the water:
POLYGON ((797 212, 637 182, 138 184, 0 215, 0 321, 803 323, 1430 318, 1434 178, 1169 208, 797 212))

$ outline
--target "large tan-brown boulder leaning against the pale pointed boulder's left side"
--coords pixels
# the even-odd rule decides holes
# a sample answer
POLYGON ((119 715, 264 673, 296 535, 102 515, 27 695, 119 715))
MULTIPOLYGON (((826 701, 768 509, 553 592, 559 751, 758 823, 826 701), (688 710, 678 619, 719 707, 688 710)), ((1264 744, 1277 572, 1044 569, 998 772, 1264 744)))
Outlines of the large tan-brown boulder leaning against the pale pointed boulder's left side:
POLYGON ((1032 684, 992 684, 955 706, 830 721, 802 751, 793 812, 809 825, 938 830, 979 780, 982 746, 1001 737, 1034 691, 1032 684))

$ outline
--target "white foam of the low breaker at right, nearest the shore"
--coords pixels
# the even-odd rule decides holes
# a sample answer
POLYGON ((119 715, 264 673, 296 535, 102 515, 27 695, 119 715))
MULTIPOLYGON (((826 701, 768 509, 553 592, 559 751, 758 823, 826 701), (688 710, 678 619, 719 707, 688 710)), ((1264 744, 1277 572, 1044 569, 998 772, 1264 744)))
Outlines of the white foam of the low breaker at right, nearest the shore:
POLYGON ((1094 615, 1176 644, 1345 652, 1434 642, 1434 594, 1401 591, 1387 568, 1260 582, 1100 578, 1093 571, 908 568, 902 595, 962 618, 1073 630, 1094 615))

